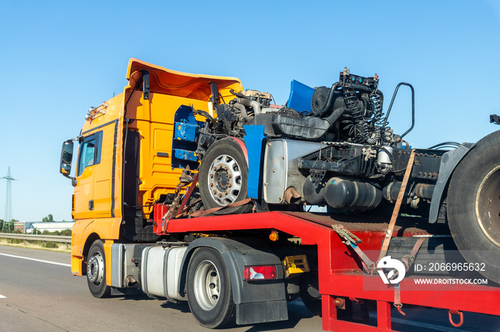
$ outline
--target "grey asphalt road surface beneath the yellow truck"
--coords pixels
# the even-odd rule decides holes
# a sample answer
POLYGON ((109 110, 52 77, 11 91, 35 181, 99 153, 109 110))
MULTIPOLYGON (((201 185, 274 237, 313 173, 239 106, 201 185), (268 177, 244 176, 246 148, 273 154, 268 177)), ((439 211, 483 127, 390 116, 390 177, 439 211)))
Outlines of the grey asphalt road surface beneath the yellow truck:
MULTIPOLYGON (((400 331, 500 331, 500 318, 466 313, 452 328, 446 311, 393 312, 400 331)), ((289 321, 224 331, 321 331, 321 318, 300 301, 289 304, 289 321)), ((375 323, 375 313, 370 314, 375 323)), ((72 276, 69 254, 0 246, 0 331, 209 331, 194 321, 187 304, 169 304, 140 293, 95 299, 86 279, 72 276), (36 260, 21 259, 19 257, 36 260)))

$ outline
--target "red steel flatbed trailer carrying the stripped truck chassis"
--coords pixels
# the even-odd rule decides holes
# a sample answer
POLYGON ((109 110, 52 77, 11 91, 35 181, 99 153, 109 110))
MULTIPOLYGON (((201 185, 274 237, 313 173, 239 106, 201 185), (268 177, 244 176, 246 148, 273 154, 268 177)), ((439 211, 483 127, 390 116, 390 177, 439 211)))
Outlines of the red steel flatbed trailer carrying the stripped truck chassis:
MULTIPOLYGON (((168 232, 218 232, 232 229, 262 230, 284 232, 299 237, 303 245, 315 245, 318 252, 319 293, 321 294, 322 319, 324 331, 394 331, 391 329, 391 308, 394 304, 394 286, 382 290, 366 290, 364 286, 373 282, 380 284, 379 276, 363 274, 361 261, 351 247, 347 247, 332 224, 341 224, 361 239, 359 248, 363 251, 379 251, 389 225, 383 217, 366 217, 358 222, 359 216, 344 214, 314 214, 308 212, 261 212, 253 214, 221 215, 190 219, 171 219, 168 232), (368 279, 368 281, 367 281, 368 279), (371 280, 370 280, 371 279, 371 280), (377 326, 369 326, 355 321, 344 321, 337 315, 341 297, 351 301, 376 301, 377 326)), ((414 222, 398 222, 393 233, 397 237, 428 237, 429 232, 414 227, 414 222)), ((423 223, 424 224, 424 223, 423 223)), ((425 224, 424 224, 425 225, 425 224)), ((435 227, 434 235, 446 234, 446 227, 435 227)), ((415 289, 414 278, 401 281, 400 293, 403 305, 442 308, 449 311, 450 323, 460 326, 463 312, 486 313, 500 316, 500 288, 495 286, 455 285, 446 291, 442 286, 426 286, 425 291, 415 289), (437 292, 437 293, 436 293, 437 292), (439 294, 443 292, 443 294, 439 294)), ((425 278, 425 277, 423 277, 425 278)), ((427 278, 431 278, 428 276, 427 278)), ((402 309, 404 310, 404 309, 402 309)))

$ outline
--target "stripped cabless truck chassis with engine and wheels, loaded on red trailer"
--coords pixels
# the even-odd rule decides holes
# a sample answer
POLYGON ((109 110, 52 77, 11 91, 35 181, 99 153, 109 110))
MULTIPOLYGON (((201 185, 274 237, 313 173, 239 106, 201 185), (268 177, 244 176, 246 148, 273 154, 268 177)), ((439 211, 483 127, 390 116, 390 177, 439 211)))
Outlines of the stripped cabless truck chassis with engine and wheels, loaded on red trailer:
MULTIPOLYGON (((399 83, 384 113, 378 87, 378 76, 344 68, 331 88, 307 87, 313 92, 300 103, 278 106, 269 93, 233 91, 228 103, 212 98, 215 118, 193 110, 207 118, 196 150, 204 209, 237 214, 310 205, 329 213, 405 213, 447 223, 467 261, 498 261, 500 166, 491 147, 500 131, 476 143, 410 148, 403 138, 414 128, 414 88, 399 83), (411 89, 411 127, 396 135, 388 118, 403 85, 411 89)), ((481 274, 498 280, 495 271, 499 266, 481 274)))

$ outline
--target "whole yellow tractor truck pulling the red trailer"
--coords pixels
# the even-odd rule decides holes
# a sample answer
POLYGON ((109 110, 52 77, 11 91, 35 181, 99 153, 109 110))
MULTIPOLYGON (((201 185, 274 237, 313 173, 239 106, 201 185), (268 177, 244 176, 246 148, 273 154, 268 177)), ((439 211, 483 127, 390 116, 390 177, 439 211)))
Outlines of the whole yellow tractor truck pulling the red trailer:
POLYGON ((196 293, 199 299, 190 301, 191 305, 199 303, 201 313, 211 313, 209 318, 198 315, 204 326, 219 326, 235 317, 239 323, 286 319, 284 270, 276 254, 263 251, 265 244, 253 241, 247 245, 244 240, 224 238, 196 240, 184 232, 168 236, 167 244, 160 242, 166 235, 154 232, 155 204, 172 204, 176 193, 184 192, 178 188, 181 170, 197 168, 198 157, 190 149, 192 142, 186 140, 194 139, 197 128, 184 118, 196 123, 191 108, 213 114, 212 89, 219 98, 229 99, 230 90, 243 90, 240 81, 169 71, 135 59, 129 63, 127 79, 124 93, 90 108, 80 135, 64 142, 61 173, 75 187, 71 271, 87 276, 96 297, 141 286, 147 294, 187 300, 186 278, 196 277, 191 281, 196 287, 206 278, 216 284, 219 280, 225 285, 233 283, 233 294, 200 290, 196 293), (184 110, 188 105, 189 114, 184 110), (74 142, 79 143, 75 157, 74 142), (188 271, 192 261, 199 261, 196 274, 188 271), (214 269, 217 274, 211 276, 214 269), (271 281, 251 284, 264 277, 271 281), (231 307, 226 304, 214 311, 219 293, 231 296, 231 307), (249 305, 258 305, 261 314, 245 310, 249 305), (226 314, 220 317, 220 310, 226 314))

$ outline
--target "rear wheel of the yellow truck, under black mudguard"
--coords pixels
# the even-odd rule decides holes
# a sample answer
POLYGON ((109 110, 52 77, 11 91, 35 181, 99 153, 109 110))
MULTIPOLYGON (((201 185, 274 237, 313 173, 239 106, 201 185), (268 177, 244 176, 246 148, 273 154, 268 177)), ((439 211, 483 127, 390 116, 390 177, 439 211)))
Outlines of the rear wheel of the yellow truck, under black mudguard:
POLYGON ((187 271, 187 298, 191 313, 201 326, 234 325, 236 306, 229 271, 218 251, 210 248, 194 251, 187 271))

